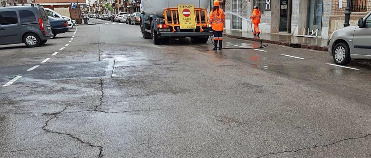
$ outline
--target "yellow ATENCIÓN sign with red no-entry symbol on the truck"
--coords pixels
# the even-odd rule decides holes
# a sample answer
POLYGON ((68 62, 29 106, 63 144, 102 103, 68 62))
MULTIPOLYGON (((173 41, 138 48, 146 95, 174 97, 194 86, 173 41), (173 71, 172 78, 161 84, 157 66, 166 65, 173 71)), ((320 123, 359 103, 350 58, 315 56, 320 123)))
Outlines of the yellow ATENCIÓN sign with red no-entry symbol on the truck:
POLYGON ((178 5, 180 28, 196 28, 194 5, 178 5))

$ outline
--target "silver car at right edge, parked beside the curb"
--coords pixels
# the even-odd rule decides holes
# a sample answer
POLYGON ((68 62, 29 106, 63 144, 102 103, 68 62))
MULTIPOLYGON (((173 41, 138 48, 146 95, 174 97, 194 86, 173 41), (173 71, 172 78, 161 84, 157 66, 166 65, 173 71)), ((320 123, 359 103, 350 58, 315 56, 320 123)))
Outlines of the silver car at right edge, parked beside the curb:
POLYGON ((371 12, 358 25, 332 32, 328 51, 336 64, 347 65, 351 59, 371 59, 371 12))

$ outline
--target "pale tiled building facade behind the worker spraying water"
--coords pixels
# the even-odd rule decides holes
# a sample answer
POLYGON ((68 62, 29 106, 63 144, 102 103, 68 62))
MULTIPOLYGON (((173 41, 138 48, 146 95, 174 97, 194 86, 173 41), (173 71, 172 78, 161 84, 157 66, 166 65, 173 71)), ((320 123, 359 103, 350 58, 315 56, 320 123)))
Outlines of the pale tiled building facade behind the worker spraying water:
POLYGON ((332 0, 226 0, 226 29, 250 31, 253 6, 263 33, 328 38, 332 0), (308 31, 309 30, 309 31, 308 31))

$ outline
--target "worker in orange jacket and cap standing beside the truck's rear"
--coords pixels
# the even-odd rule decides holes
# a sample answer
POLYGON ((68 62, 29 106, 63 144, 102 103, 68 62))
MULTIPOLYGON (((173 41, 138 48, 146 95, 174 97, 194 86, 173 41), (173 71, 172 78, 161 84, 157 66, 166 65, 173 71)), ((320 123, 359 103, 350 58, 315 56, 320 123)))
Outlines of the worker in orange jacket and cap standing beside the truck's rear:
POLYGON ((214 1, 214 7, 210 12, 209 24, 212 25, 213 34, 214 34, 214 48, 217 50, 218 41, 219 41, 219 50, 223 45, 223 25, 226 19, 226 14, 224 14, 223 9, 219 8, 219 1, 214 1))

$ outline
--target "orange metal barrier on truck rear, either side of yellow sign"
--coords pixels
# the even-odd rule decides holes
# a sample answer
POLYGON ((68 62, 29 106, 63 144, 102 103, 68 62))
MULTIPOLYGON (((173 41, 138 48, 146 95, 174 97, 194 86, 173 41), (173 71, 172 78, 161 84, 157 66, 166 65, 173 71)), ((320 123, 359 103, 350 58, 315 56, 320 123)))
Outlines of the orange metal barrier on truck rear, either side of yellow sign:
MULTIPOLYGON (((173 32, 175 32, 175 26, 180 27, 179 19, 178 19, 178 8, 166 8, 164 10, 164 14, 162 14, 165 17, 165 24, 168 26, 173 27, 173 32), (168 12, 170 12, 171 22, 168 20, 168 12), (175 14, 175 15, 174 15, 175 14), (174 19, 175 16, 175 19, 174 19)), ((196 18, 196 27, 200 27, 200 32, 203 32, 202 26, 207 26, 207 10, 203 8, 194 8, 194 16, 196 18), (204 23, 201 21, 201 13, 204 13, 204 23)))

